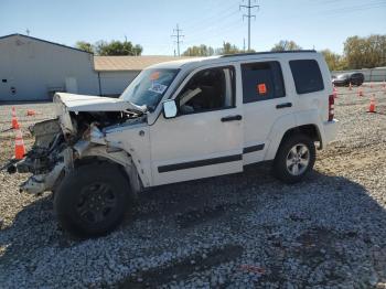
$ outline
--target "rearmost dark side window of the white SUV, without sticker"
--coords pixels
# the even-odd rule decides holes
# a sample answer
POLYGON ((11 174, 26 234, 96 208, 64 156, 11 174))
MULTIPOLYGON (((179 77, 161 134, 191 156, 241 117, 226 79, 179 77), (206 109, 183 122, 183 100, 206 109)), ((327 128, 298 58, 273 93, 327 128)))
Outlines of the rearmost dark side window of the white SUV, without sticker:
POLYGON ((290 61, 290 67, 298 94, 309 94, 324 89, 322 73, 317 61, 290 61))

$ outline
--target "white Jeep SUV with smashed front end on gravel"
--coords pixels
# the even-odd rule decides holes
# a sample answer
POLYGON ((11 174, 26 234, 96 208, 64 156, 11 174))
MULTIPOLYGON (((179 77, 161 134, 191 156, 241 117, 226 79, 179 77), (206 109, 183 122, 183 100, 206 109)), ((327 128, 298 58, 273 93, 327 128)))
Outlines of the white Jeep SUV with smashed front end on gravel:
POLYGON ((272 160, 300 181, 336 133, 329 68, 315 51, 190 58, 142 71, 119 98, 57 93, 57 118, 9 172, 52 191, 62 227, 114 229, 144 188, 236 173, 272 160))

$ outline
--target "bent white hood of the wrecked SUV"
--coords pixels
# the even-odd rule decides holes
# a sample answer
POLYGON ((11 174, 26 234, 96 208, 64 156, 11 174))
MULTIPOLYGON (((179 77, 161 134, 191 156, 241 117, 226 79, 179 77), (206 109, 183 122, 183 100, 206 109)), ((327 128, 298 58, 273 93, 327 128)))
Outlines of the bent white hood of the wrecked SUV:
POLYGON ((56 93, 54 103, 62 103, 68 111, 137 111, 143 113, 142 107, 136 106, 121 98, 111 98, 92 95, 75 95, 56 93))

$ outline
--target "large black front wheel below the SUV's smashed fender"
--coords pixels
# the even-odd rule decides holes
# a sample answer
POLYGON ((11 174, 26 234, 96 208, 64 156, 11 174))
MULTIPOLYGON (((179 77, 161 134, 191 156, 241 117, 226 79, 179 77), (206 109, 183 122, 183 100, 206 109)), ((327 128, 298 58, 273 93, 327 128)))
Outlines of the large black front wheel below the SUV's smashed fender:
POLYGON ((78 237, 106 235, 122 221, 129 190, 129 182, 117 165, 92 163, 76 168, 55 192, 58 223, 78 237))

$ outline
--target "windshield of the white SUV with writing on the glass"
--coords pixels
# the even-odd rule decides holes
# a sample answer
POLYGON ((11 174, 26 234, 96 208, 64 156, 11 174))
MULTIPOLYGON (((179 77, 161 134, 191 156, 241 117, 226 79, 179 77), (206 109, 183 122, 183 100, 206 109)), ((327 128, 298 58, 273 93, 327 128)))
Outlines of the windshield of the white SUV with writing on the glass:
POLYGON ((178 72, 179 69, 157 68, 142 71, 125 89, 120 98, 137 106, 146 106, 153 111, 178 72))

